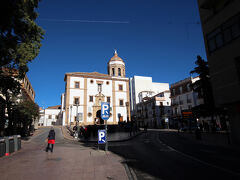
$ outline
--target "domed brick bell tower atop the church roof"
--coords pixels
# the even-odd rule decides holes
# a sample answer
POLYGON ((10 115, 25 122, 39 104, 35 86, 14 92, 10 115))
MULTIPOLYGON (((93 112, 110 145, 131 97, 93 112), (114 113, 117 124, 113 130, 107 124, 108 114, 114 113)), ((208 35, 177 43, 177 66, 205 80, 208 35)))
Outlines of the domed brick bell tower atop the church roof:
POLYGON ((108 61, 108 74, 110 76, 125 77, 125 63, 118 56, 117 50, 114 51, 114 56, 108 61))

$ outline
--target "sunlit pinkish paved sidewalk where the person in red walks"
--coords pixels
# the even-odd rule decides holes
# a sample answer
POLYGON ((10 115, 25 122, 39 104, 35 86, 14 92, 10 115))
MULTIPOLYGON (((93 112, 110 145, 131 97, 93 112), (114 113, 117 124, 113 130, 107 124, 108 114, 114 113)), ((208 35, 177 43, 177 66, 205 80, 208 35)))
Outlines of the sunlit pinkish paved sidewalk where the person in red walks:
MULTIPOLYGON (((39 137, 42 134, 39 134, 39 137)), ((0 158, 1 180, 127 180, 124 159, 112 152, 65 142, 46 153, 46 143, 24 142, 22 149, 0 158)))

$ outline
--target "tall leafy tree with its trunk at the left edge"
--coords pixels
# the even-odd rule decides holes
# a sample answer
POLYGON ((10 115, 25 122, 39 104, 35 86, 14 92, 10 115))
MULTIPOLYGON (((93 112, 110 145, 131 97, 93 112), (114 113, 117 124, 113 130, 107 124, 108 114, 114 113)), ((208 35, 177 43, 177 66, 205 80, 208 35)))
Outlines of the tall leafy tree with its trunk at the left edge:
MULTIPOLYGON (((28 63, 38 55, 44 35, 42 28, 35 22, 38 17, 35 8, 39 1, 0 2, 0 93, 6 98, 10 126, 13 121, 12 97, 20 92, 19 81, 28 72, 28 63)), ((1 121, 4 121, 1 125, 5 124, 5 119, 1 121)))

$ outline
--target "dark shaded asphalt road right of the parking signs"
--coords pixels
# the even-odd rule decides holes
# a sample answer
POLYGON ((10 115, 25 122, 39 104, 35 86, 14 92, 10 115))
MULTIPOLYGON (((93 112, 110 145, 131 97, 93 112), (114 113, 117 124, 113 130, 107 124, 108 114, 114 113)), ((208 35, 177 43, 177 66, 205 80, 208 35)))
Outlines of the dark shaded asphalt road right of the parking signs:
MULTIPOLYGON (((206 161, 206 153, 211 154, 212 151, 197 153, 200 151, 196 149, 200 146, 179 144, 177 138, 172 138, 171 143, 178 143, 178 147, 171 148, 163 143, 160 137, 160 132, 148 132, 131 141, 110 143, 109 150, 124 157, 139 180, 240 179, 240 173, 218 166, 219 164, 213 161, 206 161), (193 146, 196 147, 191 154, 189 152, 193 146)), ((214 158, 217 162, 217 156, 214 158)), ((228 159, 225 162, 231 163, 228 159)), ((239 167, 239 163, 237 166, 239 167)))

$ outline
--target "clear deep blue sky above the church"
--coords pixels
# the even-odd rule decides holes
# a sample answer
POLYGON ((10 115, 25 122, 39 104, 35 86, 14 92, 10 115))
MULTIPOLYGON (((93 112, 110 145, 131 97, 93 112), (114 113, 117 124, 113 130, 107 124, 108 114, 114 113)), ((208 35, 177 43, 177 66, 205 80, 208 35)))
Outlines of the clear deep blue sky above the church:
POLYGON ((39 106, 59 105, 66 72, 107 73, 114 49, 126 76, 174 83, 206 60, 197 0, 42 0, 46 31, 28 77, 39 106))

